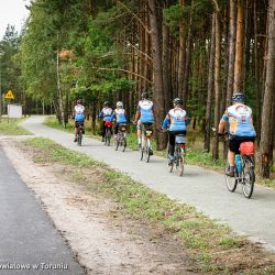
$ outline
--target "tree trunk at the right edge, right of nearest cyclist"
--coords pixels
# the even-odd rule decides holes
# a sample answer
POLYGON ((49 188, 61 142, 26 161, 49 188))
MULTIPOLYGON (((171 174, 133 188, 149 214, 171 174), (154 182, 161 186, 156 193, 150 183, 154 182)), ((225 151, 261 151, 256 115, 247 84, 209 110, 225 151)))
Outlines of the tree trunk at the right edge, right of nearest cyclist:
POLYGON ((266 78, 264 89, 264 101, 262 110, 262 135, 260 150, 262 155, 261 176, 270 177, 272 139, 272 107, 274 99, 274 75, 275 75, 275 0, 270 0, 268 7, 268 43, 266 57, 266 78))

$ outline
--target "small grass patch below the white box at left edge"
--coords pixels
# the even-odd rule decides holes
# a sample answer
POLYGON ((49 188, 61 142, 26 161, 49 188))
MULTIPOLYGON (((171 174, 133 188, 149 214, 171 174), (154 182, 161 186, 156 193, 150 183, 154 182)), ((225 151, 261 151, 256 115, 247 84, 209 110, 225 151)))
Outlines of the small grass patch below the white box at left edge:
POLYGON ((2 118, 0 123, 0 135, 31 135, 28 130, 20 127, 23 119, 10 119, 8 122, 7 118, 2 118))

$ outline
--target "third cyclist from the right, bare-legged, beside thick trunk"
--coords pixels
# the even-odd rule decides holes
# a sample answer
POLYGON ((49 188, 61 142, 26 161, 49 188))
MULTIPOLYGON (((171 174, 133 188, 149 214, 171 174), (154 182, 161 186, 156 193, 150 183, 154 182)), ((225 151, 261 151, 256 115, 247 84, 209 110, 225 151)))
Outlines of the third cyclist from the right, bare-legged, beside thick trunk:
MULTIPOLYGON (((154 123, 154 103, 148 99, 148 92, 146 91, 143 91, 141 95, 141 100, 138 105, 138 110, 133 122, 136 124, 138 145, 141 147, 141 132, 143 124, 154 123)), ((150 153, 153 155, 153 151, 150 153)))

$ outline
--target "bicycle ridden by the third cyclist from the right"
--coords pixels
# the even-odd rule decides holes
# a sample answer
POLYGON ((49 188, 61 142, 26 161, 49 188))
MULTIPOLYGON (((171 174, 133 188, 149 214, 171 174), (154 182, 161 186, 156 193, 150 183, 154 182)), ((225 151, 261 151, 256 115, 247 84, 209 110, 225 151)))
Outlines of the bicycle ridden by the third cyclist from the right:
POLYGON ((143 157, 146 163, 150 162, 150 156, 152 155, 152 139, 153 139, 153 124, 142 123, 142 135, 141 135, 141 161, 143 157))

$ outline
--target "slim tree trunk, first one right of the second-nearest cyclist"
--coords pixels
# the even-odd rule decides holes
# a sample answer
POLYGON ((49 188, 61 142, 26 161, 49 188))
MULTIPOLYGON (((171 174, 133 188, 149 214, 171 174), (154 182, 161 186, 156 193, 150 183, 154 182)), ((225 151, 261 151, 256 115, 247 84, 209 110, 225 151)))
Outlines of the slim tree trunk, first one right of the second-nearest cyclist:
POLYGON ((212 31, 211 31, 211 46, 209 54, 209 70, 207 85, 207 108, 206 108, 206 130, 205 130, 205 145, 204 150, 210 152, 210 134, 211 134, 211 109, 212 109, 212 94, 213 94, 213 70, 215 70, 215 14, 212 15, 212 31))

